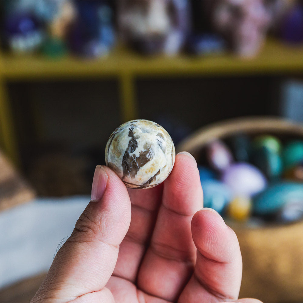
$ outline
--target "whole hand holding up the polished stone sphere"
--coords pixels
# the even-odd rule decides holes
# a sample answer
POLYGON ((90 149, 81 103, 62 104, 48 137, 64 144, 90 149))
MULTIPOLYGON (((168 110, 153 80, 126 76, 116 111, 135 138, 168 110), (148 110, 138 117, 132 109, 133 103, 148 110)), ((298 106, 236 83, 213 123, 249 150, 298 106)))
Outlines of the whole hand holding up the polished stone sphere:
POLYGON ((127 190, 98 165, 92 200, 32 303, 237 300, 237 237, 202 207, 197 164, 188 153, 178 154, 169 177, 151 189, 127 190))

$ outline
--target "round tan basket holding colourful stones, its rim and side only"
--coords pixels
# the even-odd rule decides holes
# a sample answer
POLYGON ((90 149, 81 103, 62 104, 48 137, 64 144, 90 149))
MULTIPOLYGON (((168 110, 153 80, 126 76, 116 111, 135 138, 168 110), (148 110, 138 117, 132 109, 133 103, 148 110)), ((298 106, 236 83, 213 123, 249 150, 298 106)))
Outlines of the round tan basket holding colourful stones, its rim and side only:
MULTIPOLYGON (((198 159, 206 143, 237 132, 303 138, 300 124, 280 118, 248 117, 201 128, 176 149, 188 151, 198 159)), ((238 236, 243 259, 240 297, 255 297, 264 302, 303 302, 303 221, 259 228, 231 223, 231 227, 238 236)))

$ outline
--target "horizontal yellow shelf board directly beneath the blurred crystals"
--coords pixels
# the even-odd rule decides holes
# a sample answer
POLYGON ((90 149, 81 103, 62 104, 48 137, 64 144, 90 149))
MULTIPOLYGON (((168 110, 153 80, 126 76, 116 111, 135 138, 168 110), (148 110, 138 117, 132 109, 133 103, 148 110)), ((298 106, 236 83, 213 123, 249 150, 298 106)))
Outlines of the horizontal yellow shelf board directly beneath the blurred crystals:
POLYGON ((106 58, 83 59, 67 56, 0 56, 0 77, 18 78, 95 77, 129 75, 230 75, 296 72, 303 70, 303 46, 268 41, 252 59, 233 54, 176 57, 145 57, 118 48, 106 58))

